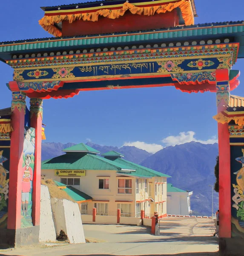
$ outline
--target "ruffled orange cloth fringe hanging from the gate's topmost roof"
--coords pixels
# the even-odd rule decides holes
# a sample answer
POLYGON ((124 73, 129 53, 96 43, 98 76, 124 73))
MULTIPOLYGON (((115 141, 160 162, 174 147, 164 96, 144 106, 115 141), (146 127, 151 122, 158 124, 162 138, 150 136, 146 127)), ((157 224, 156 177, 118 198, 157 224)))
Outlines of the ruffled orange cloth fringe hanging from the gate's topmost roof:
POLYGON ((177 3, 168 3, 166 5, 158 5, 158 6, 147 6, 147 7, 138 7, 131 3, 124 3, 122 9, 117 10, 109 10, 102 9, 96 12, 87 12, 87 13, 77 13, 70 15, 53 15, 53 16, 44 16, 41 20, 39 20, 39 24, 50 34, 60 37, 62 36, 62 32, 54 25, 55 23, 60 23, 63 20, 69 20, 69 23, 74 22, 75 20, 90 20, 90 21, 98 21, 98 16, 108 17, 109 19, 116 19, 120 16, 123 16, 124 13, 129 10, 132 14, 138 15, 155 15, 155 13, 165 13, 171 12, 173 9, 179 7, 182 12, 183 19, 185 24, 193 25, 194 24, 194 16, 192 12, 191 2, 189 0, 181 0, 177 3))

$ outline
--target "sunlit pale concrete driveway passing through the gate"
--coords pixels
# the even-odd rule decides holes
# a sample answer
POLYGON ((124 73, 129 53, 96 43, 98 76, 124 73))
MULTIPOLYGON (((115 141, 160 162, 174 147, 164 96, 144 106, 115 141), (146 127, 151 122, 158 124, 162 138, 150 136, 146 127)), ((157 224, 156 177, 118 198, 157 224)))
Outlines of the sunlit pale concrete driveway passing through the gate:
POLYGON ((84 224, 86 239, 95 243, 0 250, 0 255, 218 255, 218 239, 212 236, 214 224, 211 219, 167 217, 160 225, 161 236, 152 236, 146 227, 84 224))

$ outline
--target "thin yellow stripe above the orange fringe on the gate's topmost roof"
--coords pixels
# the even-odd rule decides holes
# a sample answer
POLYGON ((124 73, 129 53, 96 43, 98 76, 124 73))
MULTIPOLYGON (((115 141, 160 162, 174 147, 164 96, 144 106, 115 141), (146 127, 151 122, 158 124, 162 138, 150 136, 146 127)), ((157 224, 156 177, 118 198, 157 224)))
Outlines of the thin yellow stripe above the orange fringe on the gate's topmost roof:
MULTIPOLYGON (((154 2, 143 2, 143 3, 133 3, 134 6, 142 6, 142 5, 152 5, 152 4, 160 4, 160 3, 170 3, 169 0, 159 0, 154 2)), ((79 9, 70 9, 70 10, 57 10, 57 11, 46 11, 45 14, 50 13, 66 13, 66 12, 79 12, 79 11, 88 11, 88 10, 96 10, 96 9, 109 9, 115 7, 123 7, 124 3, 116 4, 116 5, 109 5, 109 6, 96 6, 90 8, 79 8, 79 9)))

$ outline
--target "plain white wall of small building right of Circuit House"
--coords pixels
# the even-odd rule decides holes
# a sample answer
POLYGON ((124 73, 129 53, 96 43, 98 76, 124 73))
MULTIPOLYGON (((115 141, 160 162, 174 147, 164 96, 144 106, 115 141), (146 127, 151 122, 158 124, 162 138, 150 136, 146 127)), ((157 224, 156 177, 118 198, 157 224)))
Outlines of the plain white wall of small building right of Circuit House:
POLYGON ((189 193, 188 192, 168 192, 167 213, 175 215, 189 215, 189 193))

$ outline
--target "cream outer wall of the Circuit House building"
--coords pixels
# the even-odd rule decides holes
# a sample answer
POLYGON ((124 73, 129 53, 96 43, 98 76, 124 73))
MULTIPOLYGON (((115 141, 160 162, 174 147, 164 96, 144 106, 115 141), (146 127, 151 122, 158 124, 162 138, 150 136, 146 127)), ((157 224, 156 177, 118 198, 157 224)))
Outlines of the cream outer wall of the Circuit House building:
MULTIPOLYGON (((60 176, 55 175, 55 170, 42 170, 42 175, 46 178, 52 178, 61 182, 60 176)), ((151 179, 135 178, 135 177, 121 177, 116 171, 111 170, 86 170, 86 176, 82 177, 67 177, 67 178, 80 178, 80 185, 74 185, 76 189, 86 193, 93 198, 93 201, 87 202, 89 213, 96 204, 108 204, 109 214, 114 215, 118 209, 118 204, 131 204, 131 212, 141 216, 141 210, 145 210, 146 216, 152 216, 155 212, 155 203, 158 215, 166 214, 166 200, 167 200, 167 183, 164 177, 152 177, 151 179), (132 194, 118 193, 118 179, 131 179, 132 180, 132 194), (99 189, 99 179, 109 179, 109 189, 99 189), (138 189, 136 183, 138 180, 138 189), (163 183, 164 182, 164 183, 163 183), (163 183, 163 194, 162 194, 163 183), (149 184, 151 184, 151 196, 149 196, 149 184), (155 184, 157 185, 157 196, 155 196, 155 184), (154 202, 151 202, 152 198, 154 202), (131 201, 131 202, 129 202, 131 201), (165 201, 164 203, 162 201, 165 201), (160 211, 159 211, 160 210, 160 211)))

